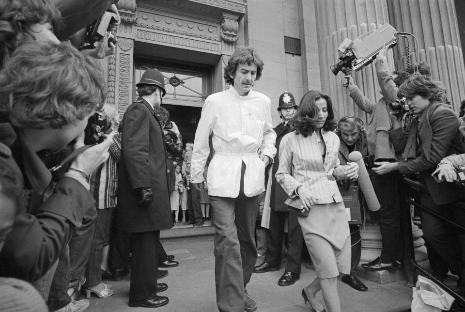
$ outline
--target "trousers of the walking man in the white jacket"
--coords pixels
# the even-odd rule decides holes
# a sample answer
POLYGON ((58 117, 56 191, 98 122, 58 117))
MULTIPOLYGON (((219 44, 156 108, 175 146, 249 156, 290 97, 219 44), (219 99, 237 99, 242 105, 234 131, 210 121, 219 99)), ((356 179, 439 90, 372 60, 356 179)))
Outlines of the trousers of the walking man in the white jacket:
POLYGON ((259 195, 244 195, 242 163, 239 196, 210 196, 215 227, 215 286, 220 312, 243 312, 244 289, 257 261, 255 222, 259 195))

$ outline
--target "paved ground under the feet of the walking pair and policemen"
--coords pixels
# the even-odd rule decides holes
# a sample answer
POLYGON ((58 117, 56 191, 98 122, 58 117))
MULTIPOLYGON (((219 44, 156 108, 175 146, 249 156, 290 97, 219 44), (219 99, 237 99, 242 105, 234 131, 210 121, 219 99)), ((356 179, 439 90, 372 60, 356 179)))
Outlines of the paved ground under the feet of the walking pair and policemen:
MULTIPOLYGON (((157 312, 214 312, 217 310, 215 299, 215 275, 213 256, 213 235, 177 237, 162 239, 168 254, 175 256, 180 265, 168 268, 169 275, 160 280, 168 284, 168 290, 160 293, 168 296, 170 303, 154 309, 157 312)), ((257 259, 257 264, 263 257, 257 259)), ((315 271, 302 263, 300 280, 294 285, 278 285, 284 266, 276 272, 253 274, 248 284, 248 293, 257 302, 257 311, 304 312, 310 311, 310 305, 304 305, 302 288, 316 277, 315 271)), ((341 308, 343 312, 396 312, 409 311, 412 289, 405 282, 377 284, 361 279, 368 287, 367 292, 359 292, 349 285, 338 281, 341 308)), ((112 285, 115 295, 109 298, 92 296, 88 312, 105 311, 148 311, 147 308, 127 306, 129 295, 129 276, 122 281, 106 281, 112 285)), ((85 296, 81 296, 84 298, 85 296)), ((323 303, 321 292, 318 297, 323 303)), ((149 310, 150 311, 150 310, 149 310)))

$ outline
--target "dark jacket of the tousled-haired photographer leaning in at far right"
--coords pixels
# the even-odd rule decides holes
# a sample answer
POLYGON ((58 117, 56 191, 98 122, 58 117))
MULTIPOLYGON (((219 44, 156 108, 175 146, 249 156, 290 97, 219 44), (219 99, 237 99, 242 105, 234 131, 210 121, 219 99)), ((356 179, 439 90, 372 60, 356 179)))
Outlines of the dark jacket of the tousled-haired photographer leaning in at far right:
POLYGON ((412 122, 406 139, 402 128, 389 132, 396 151, 404 148, 398 169, 404 175, 419 172, 420 179, 426 183, 436 204, 463 200, 463 188, 450 183, 437 183, 431 177, 442 158, 464 153, 460 142, 462 135, 458 131, 460 120, 441 103, 430 104, 423 115, 425 118, 420 123, 416 120, 412 122), (417 141, 420 143, 417 144, 417 141))

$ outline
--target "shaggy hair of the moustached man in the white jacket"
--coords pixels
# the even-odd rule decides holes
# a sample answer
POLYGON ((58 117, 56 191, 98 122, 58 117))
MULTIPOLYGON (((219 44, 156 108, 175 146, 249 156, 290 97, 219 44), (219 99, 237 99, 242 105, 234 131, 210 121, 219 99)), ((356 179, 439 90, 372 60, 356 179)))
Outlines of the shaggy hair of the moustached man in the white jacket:
POLYGON ((251 47, 236 47, 233 55, 229 58, 228 65, 224 68, 223 77, 226 83, 233 85, 233 77, 236 73, 237 65, 242 63, 248 65, 253 63, 257 65, 257 76, 255 77, 255 80, 262 77, 263 61, 260 56, 258 56, 257 52, 251 47))

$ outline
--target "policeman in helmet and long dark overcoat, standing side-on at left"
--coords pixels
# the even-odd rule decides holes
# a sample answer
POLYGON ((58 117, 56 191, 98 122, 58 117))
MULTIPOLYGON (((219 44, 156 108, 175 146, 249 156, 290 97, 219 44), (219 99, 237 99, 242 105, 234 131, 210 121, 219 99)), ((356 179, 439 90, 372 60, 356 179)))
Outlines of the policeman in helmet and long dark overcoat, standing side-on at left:
POLYGON ((173 227, 163 129, 155 109, 166 94, 163 75, 147 70, 136 85, 139 98, 123 118, 118 179, 119 227, 131 233, 130 307, 156 308, 168 304, 156 293, 168 286, 157 284, 160 230, 173 227))

